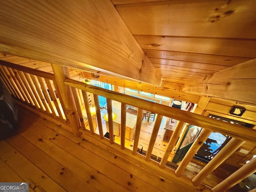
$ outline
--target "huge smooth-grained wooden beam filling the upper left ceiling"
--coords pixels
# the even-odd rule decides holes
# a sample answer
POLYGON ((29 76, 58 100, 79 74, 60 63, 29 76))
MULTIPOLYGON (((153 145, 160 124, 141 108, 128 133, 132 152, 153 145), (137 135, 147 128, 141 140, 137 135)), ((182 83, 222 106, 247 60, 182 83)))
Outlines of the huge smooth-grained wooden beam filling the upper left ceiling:
POLYGON ((5 1, 0 14, 1 52, 161 84, 110 0, 5 1))

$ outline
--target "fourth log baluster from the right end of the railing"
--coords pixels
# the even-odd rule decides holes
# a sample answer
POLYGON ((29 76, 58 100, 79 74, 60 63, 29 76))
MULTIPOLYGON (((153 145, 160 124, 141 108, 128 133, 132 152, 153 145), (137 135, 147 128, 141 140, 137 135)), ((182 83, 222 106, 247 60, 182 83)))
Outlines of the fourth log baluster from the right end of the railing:
POLYGON ((172 136, 168 142, 167 148, 164 152, 164 156, 162 157, 162 160, 159 164, 160 168, 164 168, 166 162, 168 161, 168 158, 180 136, 180 133, 182 132, 182 129, 184 128, 184 126, 186 125, 186 123, 182 122, 182 121, 178 121, 176 128, 174 129, 174 132, 172 133, 172 136))

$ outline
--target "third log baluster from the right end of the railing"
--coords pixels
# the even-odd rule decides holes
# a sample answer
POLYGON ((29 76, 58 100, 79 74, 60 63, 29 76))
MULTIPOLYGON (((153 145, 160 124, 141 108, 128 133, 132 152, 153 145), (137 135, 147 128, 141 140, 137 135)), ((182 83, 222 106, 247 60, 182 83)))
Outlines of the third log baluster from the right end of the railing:
POLYGON ((212 133, 212 131, 207 130, 207 129, 203 129, 201 131, 199 136, 196 138, 196 140, 194 141, 194 143, 192 144, 192 146, 190 147, 190 149, 184 156, 183 160, 180 162, 180 165, 176 169, 175 174, 177 177, 179 177, 182 174, 182 172, 184 171, 184 169, 186 168, 188 163, 192 160, 192 158, 194 157, 196 152, 204 144, 204 142, 210 136, 211 133, 212 133))

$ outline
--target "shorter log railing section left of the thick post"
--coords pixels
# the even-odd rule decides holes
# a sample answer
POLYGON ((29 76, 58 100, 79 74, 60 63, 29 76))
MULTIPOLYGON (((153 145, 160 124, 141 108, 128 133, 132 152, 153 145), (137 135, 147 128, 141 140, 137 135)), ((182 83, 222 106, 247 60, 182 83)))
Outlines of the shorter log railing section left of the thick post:
POLYGON ((66 124, 54 74, 1 60, 0 80, 23 106, 66 124))

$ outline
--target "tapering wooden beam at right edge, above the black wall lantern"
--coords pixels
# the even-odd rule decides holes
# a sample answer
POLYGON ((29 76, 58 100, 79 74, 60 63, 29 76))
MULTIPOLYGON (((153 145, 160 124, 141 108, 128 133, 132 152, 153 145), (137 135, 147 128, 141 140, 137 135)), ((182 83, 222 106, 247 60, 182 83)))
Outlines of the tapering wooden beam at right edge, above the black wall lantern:
POLYGON ((190 82, 182 91, 255 105, 255 71, 256 59, 252 59, 190 82))

